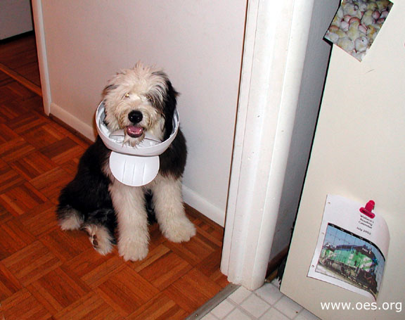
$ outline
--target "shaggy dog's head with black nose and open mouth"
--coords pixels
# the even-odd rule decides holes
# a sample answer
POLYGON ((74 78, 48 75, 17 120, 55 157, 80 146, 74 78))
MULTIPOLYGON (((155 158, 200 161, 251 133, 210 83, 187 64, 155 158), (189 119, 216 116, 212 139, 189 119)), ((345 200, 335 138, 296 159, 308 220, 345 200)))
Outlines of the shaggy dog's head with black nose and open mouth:
POLYGON ((131 146, 146 132, 165 140, 172 133, 176 96, 165 72, 137 63, 117 73, 105 87, 105 123, 110 132, 123 129, 131 146))

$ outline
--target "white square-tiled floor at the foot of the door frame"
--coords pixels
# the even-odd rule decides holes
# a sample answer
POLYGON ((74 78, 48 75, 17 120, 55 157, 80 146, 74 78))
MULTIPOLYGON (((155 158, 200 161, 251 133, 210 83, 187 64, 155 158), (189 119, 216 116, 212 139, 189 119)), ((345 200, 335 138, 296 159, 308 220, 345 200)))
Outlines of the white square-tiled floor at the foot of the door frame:
POLYGON ((279 290, 278 280, 250 291, 243 287, 229 295, 202 320, 319 320, 279 290))

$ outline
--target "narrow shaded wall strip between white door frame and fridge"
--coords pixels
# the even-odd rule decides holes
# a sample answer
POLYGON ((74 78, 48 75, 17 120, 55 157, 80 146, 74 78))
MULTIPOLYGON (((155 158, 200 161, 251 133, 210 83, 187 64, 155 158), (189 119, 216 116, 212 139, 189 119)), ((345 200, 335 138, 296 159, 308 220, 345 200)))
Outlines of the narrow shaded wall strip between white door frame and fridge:
POLYGON ((339 4, 339 0, 314 0, 300 96, 270 260, 288 246, 292 235, 328 70, 331 45, 323 40, 323 36, 339 4))

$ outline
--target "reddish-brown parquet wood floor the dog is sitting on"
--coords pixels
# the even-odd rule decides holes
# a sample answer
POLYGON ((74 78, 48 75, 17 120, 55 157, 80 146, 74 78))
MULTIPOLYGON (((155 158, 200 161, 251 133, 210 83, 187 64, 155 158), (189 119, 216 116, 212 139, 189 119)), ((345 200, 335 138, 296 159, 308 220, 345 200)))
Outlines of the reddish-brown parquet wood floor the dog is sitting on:
POLYGON ((197 227, 188 243, 167 241, 155 224, 145 260, 98 255, 55 217, 87 146, 0 72, 0 319, 184 319, 228 284, 223 229, 186 206, 197 227))

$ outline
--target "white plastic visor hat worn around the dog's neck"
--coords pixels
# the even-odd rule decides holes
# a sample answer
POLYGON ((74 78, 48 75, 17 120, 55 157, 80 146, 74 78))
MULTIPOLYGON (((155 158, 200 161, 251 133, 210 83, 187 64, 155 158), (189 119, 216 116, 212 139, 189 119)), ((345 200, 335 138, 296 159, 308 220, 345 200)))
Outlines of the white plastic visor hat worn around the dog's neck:
POLYGON ((96 128, 105 146, 111 150, 109 165, 115 179, 128 186, 144 186, 158 175, 159 155, 164 153, 179 132, 179 113, 174 110, 173 131, 165 141, 146 134, 141 143, 124 143, 124 132, 110 132, 105 125, 105 105, 96 110, 96 128))

